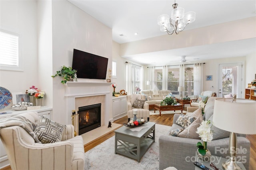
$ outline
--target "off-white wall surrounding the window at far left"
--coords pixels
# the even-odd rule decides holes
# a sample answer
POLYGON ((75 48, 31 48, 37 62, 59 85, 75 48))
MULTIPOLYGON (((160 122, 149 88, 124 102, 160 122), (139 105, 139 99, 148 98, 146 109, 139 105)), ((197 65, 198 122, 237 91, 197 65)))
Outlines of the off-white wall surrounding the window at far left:
POLYGON ((0 70, 0 86, 10 90, 13 96, 25 94, 33 85, 44 90, 38 81, 36 6, 36 1, 0 1, 0 28, 20 35, 23 71, 0 70))

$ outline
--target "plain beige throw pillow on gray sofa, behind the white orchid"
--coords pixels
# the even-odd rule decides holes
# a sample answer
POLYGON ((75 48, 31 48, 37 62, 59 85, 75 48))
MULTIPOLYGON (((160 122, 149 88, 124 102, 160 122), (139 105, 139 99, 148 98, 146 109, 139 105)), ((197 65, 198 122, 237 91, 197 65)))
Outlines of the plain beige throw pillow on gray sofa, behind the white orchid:
MULTIPOLYGON (((193 113, 187 113, 193 117, 196 117, 196 120, 191 123, 186 129, 178 134, 178 137, 191 138, 191 139, 201 139, 196 133, 197 128, 200 126, 200 123, 203 121, 202 110, 199 108, 193 113)), ((186 114, 186 115, 187 115, 186 114)))

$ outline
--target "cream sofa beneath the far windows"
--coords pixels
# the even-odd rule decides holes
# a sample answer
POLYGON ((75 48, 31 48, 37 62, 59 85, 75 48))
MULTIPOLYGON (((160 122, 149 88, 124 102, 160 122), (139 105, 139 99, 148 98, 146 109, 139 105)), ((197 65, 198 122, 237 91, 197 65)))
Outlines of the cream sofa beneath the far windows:
POLYGON ((146 96, 146 103, 149 104, 149 109, 154 109, 154 104, 160 104, 164 96, 170 94, 170 90, 141 90, 140 94, 146 96))

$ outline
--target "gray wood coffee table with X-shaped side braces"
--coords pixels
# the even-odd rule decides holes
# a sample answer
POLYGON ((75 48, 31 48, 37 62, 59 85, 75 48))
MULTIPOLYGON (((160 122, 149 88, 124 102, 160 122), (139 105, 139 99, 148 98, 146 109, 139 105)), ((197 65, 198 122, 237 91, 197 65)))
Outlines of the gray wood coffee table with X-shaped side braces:
POLYGON ((130 128, 122 126, 115 130, 115 154, 122 154, 140 162, 148 148, 155 142, 155 124, 148 122, 140 131, 131 131, 130 128))

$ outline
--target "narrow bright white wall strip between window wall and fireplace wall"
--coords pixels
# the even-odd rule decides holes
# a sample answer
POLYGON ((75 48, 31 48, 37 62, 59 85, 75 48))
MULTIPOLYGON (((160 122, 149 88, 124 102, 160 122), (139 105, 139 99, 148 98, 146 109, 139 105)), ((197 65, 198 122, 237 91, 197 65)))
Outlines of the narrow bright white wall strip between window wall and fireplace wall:
POLYGON ((44 87, 43 105, 52 107, 52 2, 37 1, 38 83, 44 87))

